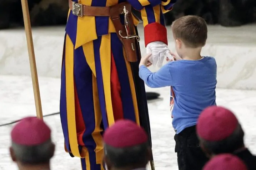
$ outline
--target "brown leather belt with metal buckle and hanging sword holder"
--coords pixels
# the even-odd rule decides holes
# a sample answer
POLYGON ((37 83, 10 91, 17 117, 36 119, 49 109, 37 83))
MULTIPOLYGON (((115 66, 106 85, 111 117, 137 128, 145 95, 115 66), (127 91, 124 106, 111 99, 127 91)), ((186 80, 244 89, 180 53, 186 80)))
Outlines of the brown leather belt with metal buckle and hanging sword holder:
MULTIPOLYGON (((100 0, 99 0, 100 1, 100 0)), ((118 38, 120 39, 125 55, 128 62, 137 62, 138 57, 136 53, 137 43, 140 41, 140 37, 137 36, 133 18, 131 14, 131 4, 128 2, 122 2, 120 4, 112 5, 110 7, 99 6, 86 6, 78 4, 69 0, 69 8, 72 10, 72 14, 82 16, 107 16, 111 18, 111 21, 116 29, 118 38), (120 14, 124 15, 125 24, 121 23, 120 14)))

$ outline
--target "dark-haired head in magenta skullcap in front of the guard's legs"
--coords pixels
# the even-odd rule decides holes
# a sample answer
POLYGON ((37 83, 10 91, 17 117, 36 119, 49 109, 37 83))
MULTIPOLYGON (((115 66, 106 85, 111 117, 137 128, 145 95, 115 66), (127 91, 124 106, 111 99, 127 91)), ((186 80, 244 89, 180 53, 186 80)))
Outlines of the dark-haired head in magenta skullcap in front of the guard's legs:
POLYGON ((117 121, 106 130, 103 140, 109 170, 146 170, 152 152, 146 132, 135 122, 117 121))

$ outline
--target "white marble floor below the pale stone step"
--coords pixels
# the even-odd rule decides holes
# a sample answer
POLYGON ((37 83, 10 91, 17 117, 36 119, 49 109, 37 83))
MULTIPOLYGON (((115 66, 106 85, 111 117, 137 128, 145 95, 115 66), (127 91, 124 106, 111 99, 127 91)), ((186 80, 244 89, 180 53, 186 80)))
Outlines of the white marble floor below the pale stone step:
MULTIPOLYGON (((60 79, 39 78, 42 108, 45 115, 59 111, 60 79)), ((169 113, 169 88, 149 89, 161 94, 162 99, 149 103, 153 152, 157 170, 177 170, 174 153, 174 131, 169 113)), ((233 110, 245 130, 246 145, 256 154, 256 91, 217 89, 217 104, 233 110)), ((34 97, 30 77, 0 75, 0 124, 35 114, 34 97)), ((52 159, 53 170, 79 170, 78 158, 71 158, 64 151, 59 115, 46 117, 52 129, 56 153, 52 159)), ((12 125, 0 127, 0 170, 16 170, 11 162, 8 146, 12 125)))

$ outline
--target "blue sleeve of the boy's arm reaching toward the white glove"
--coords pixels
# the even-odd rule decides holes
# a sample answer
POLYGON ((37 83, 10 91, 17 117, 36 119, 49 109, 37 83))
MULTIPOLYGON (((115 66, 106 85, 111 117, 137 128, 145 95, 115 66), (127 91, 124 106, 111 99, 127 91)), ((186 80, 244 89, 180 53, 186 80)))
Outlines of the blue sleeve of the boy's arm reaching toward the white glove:
POLYGON ((172 86, 173 84, 169 64, 164 65, 155 73, 152 73, 145 65, 141 65, 139 76, 151 88, 172 86))

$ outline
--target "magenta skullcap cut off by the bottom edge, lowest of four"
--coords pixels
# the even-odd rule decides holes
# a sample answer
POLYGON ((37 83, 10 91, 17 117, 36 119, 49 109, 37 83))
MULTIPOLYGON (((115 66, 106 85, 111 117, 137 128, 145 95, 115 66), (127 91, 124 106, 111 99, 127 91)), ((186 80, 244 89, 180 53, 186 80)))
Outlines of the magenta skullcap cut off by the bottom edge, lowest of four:
POLYGON ((207 162, 203 170, 247 170, 247 166, 235 155, 220 154, 207 162))

